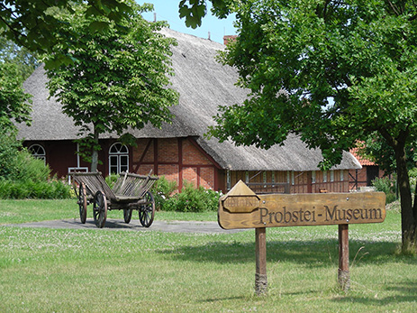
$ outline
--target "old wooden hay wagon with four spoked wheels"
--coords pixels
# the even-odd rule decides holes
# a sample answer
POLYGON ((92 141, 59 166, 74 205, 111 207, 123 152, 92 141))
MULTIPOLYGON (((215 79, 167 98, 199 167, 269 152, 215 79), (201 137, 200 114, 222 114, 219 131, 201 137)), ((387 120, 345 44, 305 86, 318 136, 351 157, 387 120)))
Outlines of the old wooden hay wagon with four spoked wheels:
POLYGON ((158 177, 142 176, 123 172, 113 189, 105 182, 100 172, 71 173, 77 194, 81 223, 86 223, 86 207, 93 203, 95 225, 103 228, 107 210, 123 210, 124 222, 131 221, 133 210, 139 211, 141 225, 149 227, 155 215, 155 200, 150 189, 158 177))

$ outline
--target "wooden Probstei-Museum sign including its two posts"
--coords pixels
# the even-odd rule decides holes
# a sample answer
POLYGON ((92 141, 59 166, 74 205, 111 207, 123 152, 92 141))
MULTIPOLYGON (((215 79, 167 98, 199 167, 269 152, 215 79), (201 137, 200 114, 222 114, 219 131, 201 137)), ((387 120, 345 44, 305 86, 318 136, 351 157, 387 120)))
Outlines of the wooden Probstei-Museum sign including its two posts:
POLYGON ((256 230, 257 294, 267 293, 267 227, 339 225, 338 280, 349 290, 349 224, 385 220, 384 192, 257 195, 240 180, 219 202, 222 228, 256 230))

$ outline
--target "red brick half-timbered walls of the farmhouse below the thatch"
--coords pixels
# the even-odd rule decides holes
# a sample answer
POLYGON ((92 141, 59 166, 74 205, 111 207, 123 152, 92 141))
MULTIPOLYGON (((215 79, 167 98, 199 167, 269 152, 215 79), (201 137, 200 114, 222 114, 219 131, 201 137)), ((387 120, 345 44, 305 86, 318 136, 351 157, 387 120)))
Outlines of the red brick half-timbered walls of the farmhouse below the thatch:
MULTIPOLYGON (((109 148, 115 140, 101 140, 98 170, 109 174, 109 148)), ((46 152, 46 162, 52 173, 66 177, 75 167, 89 168, 77 158, 77 144, 72 141, 26 142, 41 144, 46 152)), ((129 171, 142 175, 165 176, 177 182, 182 189, 185 182, 195 187, 227 192, 239 180, 249 184, 256 192, 319 193, 348 192, 348 170, 328 171, 259 171, 222 170, 221 167, 195 142, 193 138, 138 139, 135 147, 129 146, 129 171), (287 187, 285 187, 286 185, 287 187), (287 189, 285 189, 287 188, 287 189)))

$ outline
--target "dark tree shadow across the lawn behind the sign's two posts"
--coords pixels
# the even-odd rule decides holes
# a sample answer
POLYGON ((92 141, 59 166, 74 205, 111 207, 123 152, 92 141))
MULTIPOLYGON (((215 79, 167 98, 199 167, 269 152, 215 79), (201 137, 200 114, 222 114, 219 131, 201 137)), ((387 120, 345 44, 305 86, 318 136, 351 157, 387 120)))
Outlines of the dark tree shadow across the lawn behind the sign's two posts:
MULTIPOLYGON (((396 256, 396 243, 349 242, 349 263, 375 264, 385 262, 415 263, 407 256, 396 256)), ((196 262, 246 263, 255 262, 255 243, 210 242, 204 246, 179 246, 176 249, 159 250, 168 258, 196 262)), ((292 262, 313 268, 328 266, 339 262, 338 240, 320 239, 314 241, 267 242, 267 262, 292 262)))

